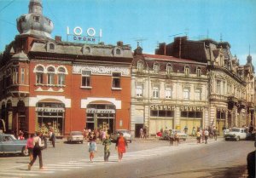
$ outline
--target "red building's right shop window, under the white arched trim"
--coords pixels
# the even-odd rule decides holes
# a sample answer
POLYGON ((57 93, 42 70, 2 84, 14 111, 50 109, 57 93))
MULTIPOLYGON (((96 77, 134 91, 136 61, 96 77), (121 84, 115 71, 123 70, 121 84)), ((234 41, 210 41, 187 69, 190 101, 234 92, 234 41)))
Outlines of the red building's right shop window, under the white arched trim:
POLYGON ((113 133, 115 127, 115 106, 112 104, 90 104, 86 109, 86 128, 105 129, 113 133))

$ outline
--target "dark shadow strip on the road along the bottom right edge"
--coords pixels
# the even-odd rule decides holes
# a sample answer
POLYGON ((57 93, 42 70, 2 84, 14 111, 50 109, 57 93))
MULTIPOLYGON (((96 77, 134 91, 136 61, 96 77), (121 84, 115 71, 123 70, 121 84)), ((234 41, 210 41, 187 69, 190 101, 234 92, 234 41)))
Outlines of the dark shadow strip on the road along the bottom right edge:
POLYGON ((140 178, 247 178, 246 173, 246 165, 237 165, 233 167, 214 169, 184 170, 180 172, 170 172, 159 175, 142 176, 140 178))

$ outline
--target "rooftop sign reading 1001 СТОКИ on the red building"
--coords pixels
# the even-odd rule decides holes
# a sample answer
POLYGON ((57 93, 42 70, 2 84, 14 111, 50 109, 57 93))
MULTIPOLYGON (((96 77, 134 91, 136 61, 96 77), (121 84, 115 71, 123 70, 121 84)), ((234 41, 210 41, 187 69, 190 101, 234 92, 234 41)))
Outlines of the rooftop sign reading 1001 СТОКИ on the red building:
POLYGON ((95 43, 97 40, 100 42, 102 37, 102 29, 100 29, 97 34, 93 27, 87 28, 86 31, 84 31, 82 27, 76 26, 73 28, 72 32, 69 26, 67 26, 67 41, 95 43))

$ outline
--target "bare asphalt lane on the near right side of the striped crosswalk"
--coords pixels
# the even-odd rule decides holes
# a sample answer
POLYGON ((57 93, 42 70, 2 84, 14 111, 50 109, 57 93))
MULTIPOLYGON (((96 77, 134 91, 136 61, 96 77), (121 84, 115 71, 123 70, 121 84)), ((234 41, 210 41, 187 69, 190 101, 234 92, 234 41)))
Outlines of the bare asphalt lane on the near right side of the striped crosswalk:
MULTIPOLYGON (((195 143, 190 143, 195 144, 195 143)), ((229 169, 245 168, 247 152, 253 150, 250 141, 217 141, 214 144, 176 150, 165 156, 145 160, 105 164, 86 169, 77 169, 55 177, 88 178, 235 178, 229 169)), ((125 157, 124 157, 125 159, 125 157)), ((244 170, 244 169, 243 169, 244 170)))

